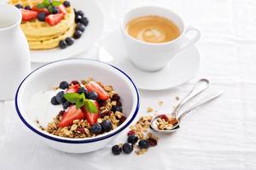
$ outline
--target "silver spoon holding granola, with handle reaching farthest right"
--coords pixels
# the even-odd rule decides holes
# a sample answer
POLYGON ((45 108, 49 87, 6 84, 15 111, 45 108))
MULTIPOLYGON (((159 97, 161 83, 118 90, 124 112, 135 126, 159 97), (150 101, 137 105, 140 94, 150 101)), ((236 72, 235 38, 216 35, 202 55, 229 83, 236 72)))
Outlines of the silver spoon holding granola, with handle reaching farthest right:
POLYGON ((166 130, 160 130, 157 125, 156 125, 156 120, 162 116, 162 115, 158 115, 158 116, 154 116, 154 118, 151 120, 150 122, 150 127, 156 131, 156 132, 160 132, 160 133, 174 133, 175 131, 177 131, 177 129, 180 128, 180 122, 183 119, 183 117, 185 115, 187 115, 190 111, 195 110, 196 108, 200 107, 201 105, 206 105, 207 103, 211 102, 214 99, 217 99, 219 96, 221 96, 223 94, 223 92, 220 92, 218 94, 214 94, 212 95, 210 98, 205 99, 201 102, 199 102, 198 104, 195 104, 193 106, 191 106, 187 111, 184 111, 183 114, 181 116, 175 117, 177 123, 172 127, 172 129, 166 129, 166 130))

